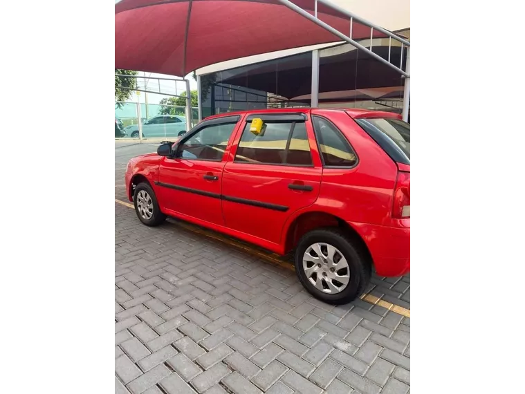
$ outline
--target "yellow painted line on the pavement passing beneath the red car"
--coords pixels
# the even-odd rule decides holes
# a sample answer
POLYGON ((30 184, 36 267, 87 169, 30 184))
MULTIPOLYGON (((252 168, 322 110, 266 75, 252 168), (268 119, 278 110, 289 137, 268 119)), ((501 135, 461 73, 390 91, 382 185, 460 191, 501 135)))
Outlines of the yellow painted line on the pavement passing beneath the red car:
MULTIPOLYGON (((125 205, 126 207, 135 209, 135 206, 133 204, 126 203, 125 201, 118 200, 117 198, 115 198, 115 202, 119 203, 121 205, 125 205)), ((200 227, 196 227, 195 225, 192 225, 190 223, 180 223, 180 222, 178 222, 178 223, 174 223, 174 224, 177 225, 178 227, 183 227, 183 228, 189 230, 190 232, 194 232, 196 234, 201 234, 203 236, 207 236, 208 238, 212 238, 212 239, 220 241, 222 243, 226 243, 228 245, 237 247, 239 249, 244 250, 245 252, 248 252, 248 254, 252 254, 254 256, 259 256, 262 259, 265 259, 266 261, 272 263, 273 265, 277 265, 277 266, 279 266, 281 268, 284 268, 285 270, 290 270, 290 271, 295 272, 295 267, 293 265, 291 265, 290 263, 286 263, 286 262, 284 262, 284 261, 282 261, 282 260, 280 260, 280 259, 278 259, 278 258, 276 258, 274 256, 271 256, 269 254, 265 254, 263 252, 259 252, 258 250, 255 250, 252 247, 249 247, 248 245, 243 245, 240 242, 234 241, 234 240, 232 240, 230 238, 226 238, 226 237, 221 236, 221 235, 219 235, 217 233, 214 233, 214 232, 211 232, 211 231, 208 231, 208 230, 205 230, 205 229, 201 229, 200 227)), ((401 306, 395 305, 394 303, 389 303, 389 302, 387 302, 385 300, 382 300, 382 299, 379 299, 378 297, 373 296, 371 294, 363 294, 360 297, 360 299, 362 299, 362 301, 366 301, 368 303, 372 303, 372 304, 377 305, 377 306, 383 306, 383 308, 387 308, 388 310, 391 310, 392 312, 397 313, 398 315, 403 315, 405 317, 410 317, 410 310, 409 309, 406 309, 406 308, 403 308, 401 306)))

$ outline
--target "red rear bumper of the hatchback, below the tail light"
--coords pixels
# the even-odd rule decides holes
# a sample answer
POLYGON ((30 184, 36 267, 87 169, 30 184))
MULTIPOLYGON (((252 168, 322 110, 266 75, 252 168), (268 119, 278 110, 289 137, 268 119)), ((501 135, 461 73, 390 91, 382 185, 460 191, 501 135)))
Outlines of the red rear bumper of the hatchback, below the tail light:
POLYGON ((410 228, 349 223, 367 244, 380 276, 403 276, 410 272, 410 228))

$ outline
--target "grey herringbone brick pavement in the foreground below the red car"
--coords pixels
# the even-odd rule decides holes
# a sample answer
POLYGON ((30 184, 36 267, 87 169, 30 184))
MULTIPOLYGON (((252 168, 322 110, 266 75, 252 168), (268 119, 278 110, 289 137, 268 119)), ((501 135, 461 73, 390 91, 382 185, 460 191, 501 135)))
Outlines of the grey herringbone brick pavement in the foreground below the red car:
MULTIPOLYGON (((259 256, 114 214, 112 393, 409 393, 407 317, 328 305, 259 256)), ((410 308, 405 278, 373 276, 368 290, 410 308)))

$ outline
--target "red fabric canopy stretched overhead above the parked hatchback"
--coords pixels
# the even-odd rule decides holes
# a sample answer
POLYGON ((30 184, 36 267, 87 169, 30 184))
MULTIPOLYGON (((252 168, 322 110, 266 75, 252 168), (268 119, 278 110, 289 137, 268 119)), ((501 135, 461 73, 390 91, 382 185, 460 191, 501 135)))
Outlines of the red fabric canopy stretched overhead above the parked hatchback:
MULTIPOLYGON (((313 0, 292 2, 313 15, 313 0)), ((225 60, 341 41, 278 0, 122 0, 115 13, 116 68, 181 77, 225 60)), ((348 17, 321 3, 317 17, 349 35, 348 17)), ((366 37, 370 28, 354 22, 352 38, 366 37)))

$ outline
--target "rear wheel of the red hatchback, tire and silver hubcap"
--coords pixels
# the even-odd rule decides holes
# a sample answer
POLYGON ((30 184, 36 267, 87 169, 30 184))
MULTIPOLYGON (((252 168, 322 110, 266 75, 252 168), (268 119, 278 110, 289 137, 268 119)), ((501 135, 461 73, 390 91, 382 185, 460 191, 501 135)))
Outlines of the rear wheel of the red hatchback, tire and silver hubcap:
POLYGON ((369 283, 370 259, 356 241, 340 229, 315 229, 295 250, 295 271, 315 298, 326 303, 349 303, 369 283))

